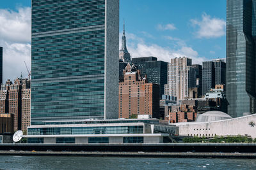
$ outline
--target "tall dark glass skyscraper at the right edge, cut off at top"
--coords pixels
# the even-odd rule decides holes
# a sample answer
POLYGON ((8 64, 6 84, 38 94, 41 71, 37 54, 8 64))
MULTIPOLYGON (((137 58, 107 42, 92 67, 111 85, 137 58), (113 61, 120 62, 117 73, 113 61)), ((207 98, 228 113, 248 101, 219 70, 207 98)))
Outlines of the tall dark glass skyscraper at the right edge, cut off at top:
POLYGON ((256 1, 227 0, 228 115, 256 113, 256 1))

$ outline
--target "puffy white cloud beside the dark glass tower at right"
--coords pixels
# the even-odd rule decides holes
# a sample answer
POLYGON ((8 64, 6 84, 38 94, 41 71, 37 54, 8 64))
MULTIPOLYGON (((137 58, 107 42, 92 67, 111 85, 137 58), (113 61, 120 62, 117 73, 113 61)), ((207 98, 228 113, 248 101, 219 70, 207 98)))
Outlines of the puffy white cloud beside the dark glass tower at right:
POLYGON ((219 38, 226 34, 226 22, 221 18, 214 18, 204 13, 202 20, 190 20, 191 24, 198 28, 196 38, 219 38))

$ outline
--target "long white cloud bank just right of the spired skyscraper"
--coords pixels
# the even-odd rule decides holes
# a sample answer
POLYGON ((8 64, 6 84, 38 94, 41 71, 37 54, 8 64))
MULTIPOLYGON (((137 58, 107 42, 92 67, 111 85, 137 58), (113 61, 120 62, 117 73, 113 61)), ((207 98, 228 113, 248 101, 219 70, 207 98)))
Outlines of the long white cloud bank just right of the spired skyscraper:
MULTIPOLYGON (((154 43, 148 45, 135 34, 127 34, 126 38, 127 50, 131 53, 131 57, 154 56, 157 57, 158 60, 170 62, 171 58, 186 56, 192 59, 193 64, 202 64, 202 62, 206 60, 204 57, 199 57, 198 52, 187 46, 186 43, 179 38, 165 37, 166 39, 176 41, 175 48, 159 46, 154 43), (131 37, 129 37, 129 35, 131 35, 131 37)), ((120 41, 120 44, 121 42, 122 41, 120 41)))

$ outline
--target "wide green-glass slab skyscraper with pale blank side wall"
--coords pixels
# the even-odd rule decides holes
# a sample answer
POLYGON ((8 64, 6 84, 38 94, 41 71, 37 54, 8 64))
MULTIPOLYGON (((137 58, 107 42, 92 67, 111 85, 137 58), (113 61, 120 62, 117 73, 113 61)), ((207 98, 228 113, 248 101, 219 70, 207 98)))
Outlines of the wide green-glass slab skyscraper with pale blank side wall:
POLYGON ((119 0, 31 3, 31 125, 118 118, 119 0))

